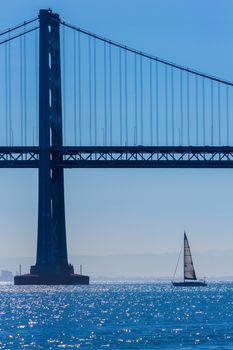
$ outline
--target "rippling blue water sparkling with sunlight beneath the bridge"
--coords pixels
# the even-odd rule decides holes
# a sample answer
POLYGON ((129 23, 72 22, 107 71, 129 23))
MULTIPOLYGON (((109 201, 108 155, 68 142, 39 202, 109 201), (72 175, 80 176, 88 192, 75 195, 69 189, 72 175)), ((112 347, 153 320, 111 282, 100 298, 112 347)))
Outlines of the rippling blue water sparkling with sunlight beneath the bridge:
POLYGON ((233 282, 1 285, 0 349, 232 349, 233 282))

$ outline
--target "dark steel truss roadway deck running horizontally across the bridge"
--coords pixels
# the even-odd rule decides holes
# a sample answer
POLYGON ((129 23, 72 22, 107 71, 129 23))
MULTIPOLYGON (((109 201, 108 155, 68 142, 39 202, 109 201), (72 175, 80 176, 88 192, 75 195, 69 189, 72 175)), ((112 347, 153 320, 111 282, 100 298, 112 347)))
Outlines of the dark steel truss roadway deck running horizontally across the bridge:
MULTIPOLYGON (((0 168, 38 168, 33 147, 0 147, 0 168)), ((233 168, 231 146, 51 147, 51 167, 63 168, 233 168)))

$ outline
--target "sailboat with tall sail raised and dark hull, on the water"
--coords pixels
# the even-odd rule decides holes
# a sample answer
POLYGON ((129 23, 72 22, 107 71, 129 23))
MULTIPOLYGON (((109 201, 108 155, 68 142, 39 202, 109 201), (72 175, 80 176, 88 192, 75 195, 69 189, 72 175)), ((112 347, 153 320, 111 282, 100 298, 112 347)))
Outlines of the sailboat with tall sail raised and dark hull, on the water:
MULTIPOLYGON (((179 255, 180 258, 180 255, 179 255)), ((177 266, 179 263, 179 258, 178 262, 176 265, 175 273, 177 270, 177 266)), ((188 242, 188 238, 186 236, 186 233, 184 231, 184 279, 183 281, 180 282, 174 282, 172 281, 172 284, 174 287, 202 287, 202 286, 207 286, 207 283, 205 280, 198 280, 196 277, 196 272, 193 266, 193 259, 192 259, 192 254, 188 242)))

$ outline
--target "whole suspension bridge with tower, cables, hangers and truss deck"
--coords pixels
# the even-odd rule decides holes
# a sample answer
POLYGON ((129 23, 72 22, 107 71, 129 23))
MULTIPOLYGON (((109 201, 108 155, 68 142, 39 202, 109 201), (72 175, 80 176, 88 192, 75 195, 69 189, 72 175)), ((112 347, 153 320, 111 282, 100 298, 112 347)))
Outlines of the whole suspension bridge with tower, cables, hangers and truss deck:
POLYGON ((88 284, 68 263, 65 168, 232 168, 233 83, 51 10, 0 33, 0 167, 38 168, 36 264, 15 284, 88 284))

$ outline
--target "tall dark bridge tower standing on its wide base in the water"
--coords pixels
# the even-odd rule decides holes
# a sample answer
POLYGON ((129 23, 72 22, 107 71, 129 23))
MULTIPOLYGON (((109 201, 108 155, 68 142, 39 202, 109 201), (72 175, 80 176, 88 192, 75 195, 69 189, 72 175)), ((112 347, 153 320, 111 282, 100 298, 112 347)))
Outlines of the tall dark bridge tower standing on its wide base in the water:
POLYGON ((15 284, 88 284, 68 263, 64 169, 53 164, 63 146, 59 15, 40 10, 39 196, 36 264, 15 284), (51 148, 53 152, 51 152, 51 148))

